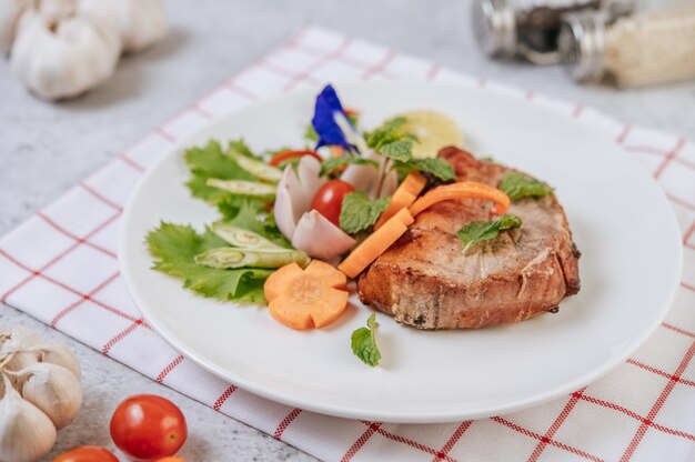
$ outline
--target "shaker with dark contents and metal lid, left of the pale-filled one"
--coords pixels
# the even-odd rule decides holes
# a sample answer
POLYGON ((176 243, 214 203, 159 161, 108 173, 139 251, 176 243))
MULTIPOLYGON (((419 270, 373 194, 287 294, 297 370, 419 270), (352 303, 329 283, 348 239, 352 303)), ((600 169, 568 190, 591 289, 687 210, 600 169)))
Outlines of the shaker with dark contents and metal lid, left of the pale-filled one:
POLYGON ((535 64, 560 62, 557 34, 565 14, 608 10, 632 11, 634 0, 475 0, 473 29, 483 51, 492 58, 521 57, 535 64))

